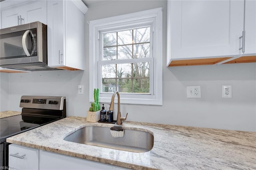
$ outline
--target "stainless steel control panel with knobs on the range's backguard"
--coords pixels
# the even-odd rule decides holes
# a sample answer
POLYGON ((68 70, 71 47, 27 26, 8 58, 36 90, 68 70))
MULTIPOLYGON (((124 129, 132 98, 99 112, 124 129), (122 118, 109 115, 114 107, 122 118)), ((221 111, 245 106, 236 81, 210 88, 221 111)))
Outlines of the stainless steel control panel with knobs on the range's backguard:
POLYGON ((64 96, 21 96, 20 107, 62 110, 64 96))

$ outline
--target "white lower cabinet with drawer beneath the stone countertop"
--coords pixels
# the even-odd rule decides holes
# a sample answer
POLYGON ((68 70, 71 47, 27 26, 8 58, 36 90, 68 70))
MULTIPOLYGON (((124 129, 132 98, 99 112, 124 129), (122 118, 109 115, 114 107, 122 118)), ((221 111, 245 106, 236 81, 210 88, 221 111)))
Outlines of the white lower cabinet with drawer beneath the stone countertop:
POLYGON ((128 170, 14 144, 9 145, 9 167, 15 170, 128 170))

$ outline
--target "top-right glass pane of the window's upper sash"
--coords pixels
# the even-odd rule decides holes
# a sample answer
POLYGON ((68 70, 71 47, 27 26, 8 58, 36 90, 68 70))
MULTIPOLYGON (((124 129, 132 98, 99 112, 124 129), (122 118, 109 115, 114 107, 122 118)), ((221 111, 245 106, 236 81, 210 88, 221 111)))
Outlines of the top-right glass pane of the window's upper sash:
POLYGON ((150 42, 150 27, 134 29, 134 43, 150 42))

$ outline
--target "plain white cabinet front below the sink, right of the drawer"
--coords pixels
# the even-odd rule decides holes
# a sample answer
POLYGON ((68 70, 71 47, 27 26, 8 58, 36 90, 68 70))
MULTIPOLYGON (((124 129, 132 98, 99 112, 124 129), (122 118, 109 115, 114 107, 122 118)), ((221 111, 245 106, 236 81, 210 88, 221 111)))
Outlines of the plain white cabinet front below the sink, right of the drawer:
MULTIPOLYGON (((90 160, 80 159, 72 156, 56 154, 40 150, 40 170, 119 170, 126 169, 118 166, 102 164, 90 160)), ((126 169, 127 170, 127 169, 126 169)))

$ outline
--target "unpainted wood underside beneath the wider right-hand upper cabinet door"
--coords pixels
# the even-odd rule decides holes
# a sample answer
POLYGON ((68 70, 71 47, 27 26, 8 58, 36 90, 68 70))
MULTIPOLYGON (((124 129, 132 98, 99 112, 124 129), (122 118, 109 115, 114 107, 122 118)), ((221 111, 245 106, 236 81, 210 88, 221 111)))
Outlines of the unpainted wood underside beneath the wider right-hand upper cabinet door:
POLYGON ((211 59, 190 59, 190 60, 173 60, 170 66, 194 66, 194 65, 212 65, 231 59, 232 57, 211 58, 211 59))

